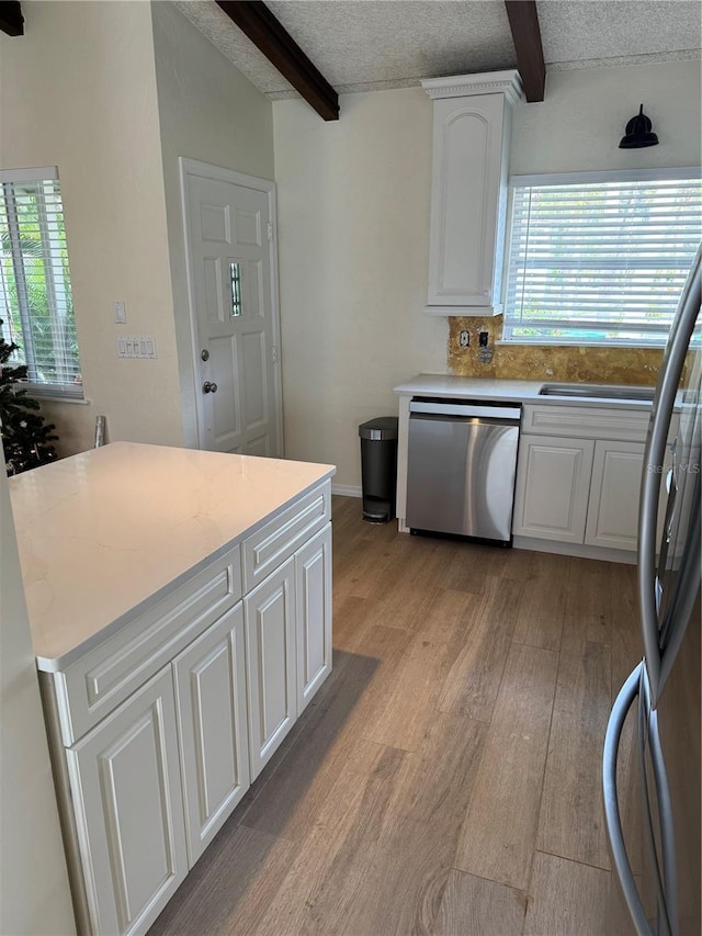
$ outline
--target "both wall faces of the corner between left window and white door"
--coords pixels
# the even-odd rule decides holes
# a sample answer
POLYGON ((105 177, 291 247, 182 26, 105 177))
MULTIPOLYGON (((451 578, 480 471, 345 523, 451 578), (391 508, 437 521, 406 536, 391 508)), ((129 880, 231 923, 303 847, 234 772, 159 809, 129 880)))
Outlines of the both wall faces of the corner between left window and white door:
POLYGON ((0 166, 59 169, 90 401, 44 404, 59 452, 90 448, 98 414, 110 441, 194 444, 178 157, 273 178, 271 103, 170 3, 22 9, 25 35, 0 36, 0 166), (120 335, 158 360, 117 358, 120 335))

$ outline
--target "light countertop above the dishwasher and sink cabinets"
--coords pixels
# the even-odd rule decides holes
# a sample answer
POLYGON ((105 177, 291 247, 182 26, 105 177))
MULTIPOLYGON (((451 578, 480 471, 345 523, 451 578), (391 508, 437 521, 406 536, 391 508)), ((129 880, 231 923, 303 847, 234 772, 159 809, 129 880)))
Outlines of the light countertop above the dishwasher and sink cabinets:
MULTIPOLYGON (((610 397, 540 396, 545 383, 565 384, 565 381, 511 381, 496 377, 458 377, 451 374, 417 374, 394 387, 395 393, 412 396, 465 397, 497 403, 539 403, 546 406, 607 406, 622 409, 644 409, 652 405, 642 399, 610 397)), ((582 386, 582 384, 570 384, 582 386)))

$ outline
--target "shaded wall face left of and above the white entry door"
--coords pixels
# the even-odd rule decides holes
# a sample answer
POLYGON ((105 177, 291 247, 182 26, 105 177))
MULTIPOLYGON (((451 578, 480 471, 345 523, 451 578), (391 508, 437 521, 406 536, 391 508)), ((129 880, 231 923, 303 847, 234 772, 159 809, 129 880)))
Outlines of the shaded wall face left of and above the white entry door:
POLYGON ((272 104, 171 3, 151 4, 184 442, 196 444, 178 157, 273 178, 272 104))

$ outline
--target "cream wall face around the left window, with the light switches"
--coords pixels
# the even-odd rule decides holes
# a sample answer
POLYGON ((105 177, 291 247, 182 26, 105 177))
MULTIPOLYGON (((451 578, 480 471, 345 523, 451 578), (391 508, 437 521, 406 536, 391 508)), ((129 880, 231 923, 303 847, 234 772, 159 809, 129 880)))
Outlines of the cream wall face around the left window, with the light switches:
POLYGON ((151 14, 145 2, 22 3, 0 36, 0 166, 58 166, 89 406, 45 406, 59 449, 111 440, 179 444, 178 364, 166 236, 151 14), (112 305, 126 303, 127 325, 112 305), (117 335, 156 338, 157 361, 118 359, 117 335))

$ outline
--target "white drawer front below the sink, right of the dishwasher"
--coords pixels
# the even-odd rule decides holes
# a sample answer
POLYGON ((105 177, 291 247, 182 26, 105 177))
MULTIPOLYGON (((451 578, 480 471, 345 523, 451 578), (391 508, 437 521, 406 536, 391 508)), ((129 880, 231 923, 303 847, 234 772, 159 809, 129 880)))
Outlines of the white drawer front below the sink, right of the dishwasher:
POLYGON ((578 439, 615 439, 643 442, 650 410, 591 406, 534 406, 522 409, 522 432, 578 439))

